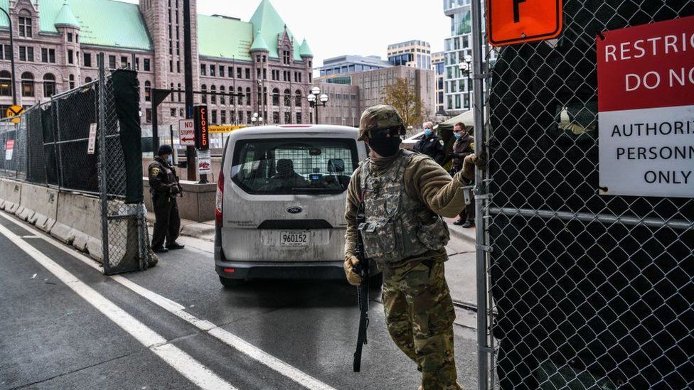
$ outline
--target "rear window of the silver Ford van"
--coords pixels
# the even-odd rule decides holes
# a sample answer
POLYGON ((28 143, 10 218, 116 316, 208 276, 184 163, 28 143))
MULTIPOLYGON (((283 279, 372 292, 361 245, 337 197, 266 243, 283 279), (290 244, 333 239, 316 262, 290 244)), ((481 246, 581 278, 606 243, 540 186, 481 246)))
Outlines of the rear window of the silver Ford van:
POLYGON ((231 178, 254 195, 336 194, 358 166, 353 139, 236 141, 231 178))

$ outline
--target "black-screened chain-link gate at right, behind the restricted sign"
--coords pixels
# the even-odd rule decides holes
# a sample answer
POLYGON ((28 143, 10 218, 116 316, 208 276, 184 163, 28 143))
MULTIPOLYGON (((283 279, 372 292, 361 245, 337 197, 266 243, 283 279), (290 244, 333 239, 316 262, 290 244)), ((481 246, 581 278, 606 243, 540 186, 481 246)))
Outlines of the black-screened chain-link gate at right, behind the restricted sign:
POLYGON ((599 195, 595 40, 694 1, 563 6, 556 40, 497 52, 472 1, 479 388, 691 389, 694 200, 599 195))

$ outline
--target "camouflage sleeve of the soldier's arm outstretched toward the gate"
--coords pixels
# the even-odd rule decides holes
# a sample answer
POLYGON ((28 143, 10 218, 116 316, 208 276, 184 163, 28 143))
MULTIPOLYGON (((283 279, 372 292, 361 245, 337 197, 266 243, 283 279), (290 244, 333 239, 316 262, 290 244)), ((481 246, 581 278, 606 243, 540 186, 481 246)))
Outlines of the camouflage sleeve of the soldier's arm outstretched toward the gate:
POLYGON ((455 217, 465 207, 461 173, 453 177, 431 158, 415 156, 405 169, 405 191, 442 217, 455 217))

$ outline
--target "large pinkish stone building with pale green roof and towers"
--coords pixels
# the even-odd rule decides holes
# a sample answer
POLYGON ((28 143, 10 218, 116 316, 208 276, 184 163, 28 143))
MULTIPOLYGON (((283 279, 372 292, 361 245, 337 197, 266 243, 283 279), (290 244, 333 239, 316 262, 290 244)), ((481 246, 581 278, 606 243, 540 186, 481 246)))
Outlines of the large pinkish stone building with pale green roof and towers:
MULTIPOLYGON (((196 1, 192 1, 195 8, 196 1)), ((0 0, 14 28, 18 103, 31 106, 97 77, 97 54, 107 67, 134 62, 141 85, 142 121, 151 122, 151 88, 183 88, 182 0, 0 0)), ((313 120, 306 95, 313 54, 269 0, 250 21, 191 12, 193 84, 210 121, 250 124, 258 113, 269 124, 313 120), (234 95, 230 95, 234 93, 234 95)), ((11 104, 11 51, 0 18, 0 109, 11 104)), ((159 123, 184 116, 182 93, 159 106, 159 123)))

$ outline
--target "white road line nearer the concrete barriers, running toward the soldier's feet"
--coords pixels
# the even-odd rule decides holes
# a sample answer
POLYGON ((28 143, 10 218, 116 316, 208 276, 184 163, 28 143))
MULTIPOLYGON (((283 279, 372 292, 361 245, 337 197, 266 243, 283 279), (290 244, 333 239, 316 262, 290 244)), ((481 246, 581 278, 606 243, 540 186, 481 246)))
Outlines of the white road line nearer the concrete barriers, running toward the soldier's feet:
MULTIPOLYGON (((0 215, 2 217, 5 217, 6 220, 14 222, 15 224, 17 224, 20 227, 23 227, 24 229, 38 233, 38 230, 34 229, 33 227, 29 227, 26 224, 18 222, 11 217, 3 215, 2 213, 0 213, 0 215)), ((79 251, 71 247, 65 246, 65 244, 63 244, 62 242, 53 239, 53 237, 42 235, 41 238, 48 242, 48 244, 53 245, 53 247, 65 251, 70 256, 79 259, 80 261, 82 261, 82 263, 87 264, 87 266, 90 266, 93 269, 102 272, 100 265, 96 261, 90 259, 89 257, 85 256, 79 251)), ((128 278, 125 278, 124 276, 114 275, 110 277, 114 281, 120 283, 122 286, 128 288, 134 293, 137 293, 137 295, 142 296, 146 300, 151 301, 155 305, 158 305, 160 308, 163 308, 169 313, 176 315, 176 317, 181 318, 182 320, 197 327, 198 329, 203 330, 204 332, 208 332, 209 335, 217 338, 221 342, 224 342, 226 345, 235 348, 239 352, 246 354, 248 357, 255 359, 257 362, 260 362, 261 364, 265 364, 266 367, 269 367, 270 369, 273 369, 279 374, 282 374, 285 377, 292 379, 293 381, 297 382, 297 384, 306 387, 306 389, 336 390, 335 388, 329 386, 328 384, 325 384, 319 379, 311 377, 309 374, 306 374, 305 372, 302 372, 300 369, 293 367, 287 362, 284 362, 281 359, 278 359, 277 357, 274 357, 271 354, 268 354, 267 352, 260 350, 260 348, 255 347, 254 345, 250 344, 249 342, 246 342, 245 340, 242 340, 240 337, 234 335, 231 332, 228 332, 228 330, 218 327, 217 325, 211 323, 208 320, 201 320, 200 318, 197 318, 191 313, 186 312, 185 306, 176 303, 173 300, 170 300, 169 298, 160 296, 154 291, 144 288, 139 284, 129 280, 128 278)))

